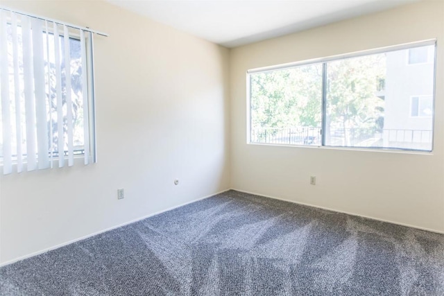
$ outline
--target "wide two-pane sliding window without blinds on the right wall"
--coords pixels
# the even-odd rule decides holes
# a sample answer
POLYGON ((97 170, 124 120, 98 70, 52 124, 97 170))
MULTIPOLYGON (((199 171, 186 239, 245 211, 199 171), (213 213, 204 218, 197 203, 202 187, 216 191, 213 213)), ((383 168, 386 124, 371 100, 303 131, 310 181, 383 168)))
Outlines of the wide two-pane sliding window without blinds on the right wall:
POLYGON ((248 71, 249 143, 431 151, 434 63, 412 49, 435 42, 248 71))

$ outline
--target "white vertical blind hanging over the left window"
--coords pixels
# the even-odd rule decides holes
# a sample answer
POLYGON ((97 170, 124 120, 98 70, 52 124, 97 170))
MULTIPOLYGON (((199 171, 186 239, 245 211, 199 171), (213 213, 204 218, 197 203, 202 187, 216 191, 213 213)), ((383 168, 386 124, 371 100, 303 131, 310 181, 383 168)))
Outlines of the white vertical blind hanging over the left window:
POLYGON ((3 173, 96 162, 92 31, 0 8, 3 173))

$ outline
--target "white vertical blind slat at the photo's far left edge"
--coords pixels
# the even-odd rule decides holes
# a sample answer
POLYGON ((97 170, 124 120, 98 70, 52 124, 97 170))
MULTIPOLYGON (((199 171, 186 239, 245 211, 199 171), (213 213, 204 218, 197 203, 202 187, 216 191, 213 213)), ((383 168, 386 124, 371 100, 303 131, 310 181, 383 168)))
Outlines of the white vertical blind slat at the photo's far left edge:
MULTIPOLYGON (((7 34, 6 12, 0 11, 0 35, 7 34)), ((11 153, 11 118, 10 118, 10 92, 9 92, 9 67, 8 67, 8 43, 6 38, 0 40, 0 83, 1 83, 1 118, 3 132, 3 173, 12 173, 11 153)))

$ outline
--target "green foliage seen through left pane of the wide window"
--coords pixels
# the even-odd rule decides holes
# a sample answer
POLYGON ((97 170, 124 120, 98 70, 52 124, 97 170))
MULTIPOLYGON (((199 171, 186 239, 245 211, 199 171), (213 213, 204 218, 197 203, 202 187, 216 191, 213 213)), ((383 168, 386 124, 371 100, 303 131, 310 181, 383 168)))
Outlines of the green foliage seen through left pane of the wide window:
POLYGON ((322 65, 251 75, 253 128, 321 125, 322 65))

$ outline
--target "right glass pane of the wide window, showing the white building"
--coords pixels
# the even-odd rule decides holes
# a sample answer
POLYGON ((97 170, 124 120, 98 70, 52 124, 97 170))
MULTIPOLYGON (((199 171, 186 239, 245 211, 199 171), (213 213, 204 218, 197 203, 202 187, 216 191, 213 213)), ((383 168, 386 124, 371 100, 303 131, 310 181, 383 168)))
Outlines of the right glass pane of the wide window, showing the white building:
POLYGON ((432 150, 434 64, 408 67, 406 51, 327 62, 325 145, 432 150))

